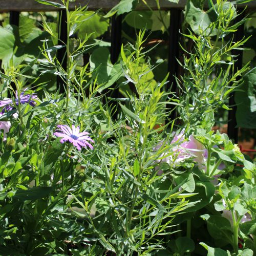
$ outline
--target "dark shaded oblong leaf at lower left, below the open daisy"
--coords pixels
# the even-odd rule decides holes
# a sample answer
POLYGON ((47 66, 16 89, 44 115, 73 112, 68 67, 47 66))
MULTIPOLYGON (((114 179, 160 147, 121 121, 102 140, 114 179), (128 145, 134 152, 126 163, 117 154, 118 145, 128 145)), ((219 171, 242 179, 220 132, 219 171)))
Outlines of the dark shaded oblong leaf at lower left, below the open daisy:
POLYGON ((14 195, 14 198, 18 198, 19 200, 22 201, 34 201, 48 196, 52 190, 52 187, 31 187, 28 188, 27 190, 18 189, 14 195))

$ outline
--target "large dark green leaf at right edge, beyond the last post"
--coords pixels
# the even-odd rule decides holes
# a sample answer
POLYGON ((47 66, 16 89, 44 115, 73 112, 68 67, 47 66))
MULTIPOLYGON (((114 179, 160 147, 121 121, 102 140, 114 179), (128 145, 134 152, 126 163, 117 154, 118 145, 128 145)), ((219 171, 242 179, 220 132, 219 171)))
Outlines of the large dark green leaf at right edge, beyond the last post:
POLYGON ((256 128, 256 68, 252 69, 243 77, 242 91, 235 93, 237 103, 237 126, 256 128))

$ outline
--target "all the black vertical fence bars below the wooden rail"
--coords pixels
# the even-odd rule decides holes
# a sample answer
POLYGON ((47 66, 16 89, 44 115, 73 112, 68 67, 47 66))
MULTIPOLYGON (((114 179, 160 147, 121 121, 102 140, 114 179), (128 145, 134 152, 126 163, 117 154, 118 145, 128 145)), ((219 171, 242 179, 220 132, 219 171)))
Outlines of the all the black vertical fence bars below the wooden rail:
MULTIPOLYGON (((255 1, 253 1, 255 2, 255 1)), ((0 7, 1 8, 1 7, 0 7)), ((180 28, 182 24, 182 16, 184 9, 183 6, 179 8, 170 8, 170 25, 169 25, 169 40, 168 40, 168 72, 169 72, 169 88, 172 88, 173 92, 177 92, 177 84, 175 77, 179 75, 179 63, 177 59, 180 57, 179 42, 181 39, 180 28)), ((45 10, 42 10, 45 11, 45 10)), ((62 45, 67 42, 67 15, 63 10, 59 10, 58 15, 58 27, 59 27, 59 42, 62 45)), ((240 10, 241 12, 241 10, 240 10)), ((243 18, 243 15, 238 16, 239 19, 243 18)), ((238 21, 238 20, 237 20, 238 21)), ((10 24, 19 25, 19 12, 10 11, 10 24)), ((121 49, 121 30, 122 30, 122 16, 114 15, 112 17, 111 25, 111 62, 114 64, 118 60, 121 49)), ((238 41, 244 35, 244 27, 240 26, 234 35, 234 40, 238 41)), ((238 60, 235 63, 235 69, 241 69, 242 67, 242 51, 234 52, 234 55, 238 55, 238 60)), ((166 54, 167 55, 167 54, 166 54)), ((57 52, 57 59, 61 63, 63 69, 67 69, 67 54, 65 48, 59 49, 57 52)), ((57 77, 57 86, 60 92, 65 92, 63 81, 57 77)), ((112 92, 112 97, 118 98, 118 89, 112 92)), ((113 102, 112 102, 113 103, 113 102)), ((113 104, 116 104, 115 102, 113 104)), ((234 95, 231 94, 229 100, 229 106, 231 110, 228 112, 228 136, 236 143, 238 142, 238 127, 236 122, 236 105, 234 102, 234 95)), ((172 112, 170 118, 176 117, 175 112, 172 112)), ((116 118, 116 114, 114 114, 116 118)))

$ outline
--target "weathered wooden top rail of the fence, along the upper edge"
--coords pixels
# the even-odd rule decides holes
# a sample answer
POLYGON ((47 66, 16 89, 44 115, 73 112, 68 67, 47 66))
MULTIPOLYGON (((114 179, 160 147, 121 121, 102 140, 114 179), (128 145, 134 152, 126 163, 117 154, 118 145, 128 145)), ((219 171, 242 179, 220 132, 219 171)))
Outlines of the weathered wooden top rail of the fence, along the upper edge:
MULTIPOLYGON (((60 3, 59 0, 51 0, 52 2, 60 3)), ((148 6, 153 10, 157 9, 155 0, 146 0, 148 6)), ((76 2, 70 3, 70 10, 74 10, 75 6, 86 6, 88 5, 89 10, 99 10, 103 11, 111 10, 115 5, 119 3, 119 0, 77 0, 76 2)), ((186 0, 180 0, 178 4, 169 2, 168 0, 160 0, 160 6, 162 10, 168 10, 170 8, 183 9, 185 7, 186 0)), ((256 9, 256 0, 249 3, 239 5, 243 8, 248 6, 248 9, 256 9)), ((148 10, 148 7, 140 0, 137 5, 137 10, 148 10)), ((1 0, 0 1, 0 12, 9 11, 57 11, 56 7, 50 5, 39 4, 35 0, 1 0)))

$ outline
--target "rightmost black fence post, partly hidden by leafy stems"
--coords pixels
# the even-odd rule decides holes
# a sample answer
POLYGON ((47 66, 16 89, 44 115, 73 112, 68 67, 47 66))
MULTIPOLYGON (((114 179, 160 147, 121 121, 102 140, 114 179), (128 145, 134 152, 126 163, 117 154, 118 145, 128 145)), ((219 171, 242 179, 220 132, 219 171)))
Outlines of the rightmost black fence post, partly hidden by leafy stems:
MULTIPOLYGON (((237 9, 240 15, 236 18, 235 23, 240 22, 244 18, 244 10, 239 8, 237 9), (243 13, 242 13, 243 12, 243 13), (242 14, 241 14, 242 13, 242 14)), ((234 33, 234 41, 240 41, 244 37, 244 24, 238 27, 238 30, 234 33)), ((242 69, 243 66, 243 51, 241 50, 232 50, 232 55, 237 56, 237 61, 234 62, 234 72, 237 70, 242 69)), ((227 126, 227 134, 230 139, 234 140, 234 143, 238 143, 238 133, 239 127, 237 127, 237 120, 236 120, 236 112, 237 106, 236 102, 234 101, 234 92, 230 94, 229 98, 229 108, 231 110, 228 111, 228 126, 227 126)))

